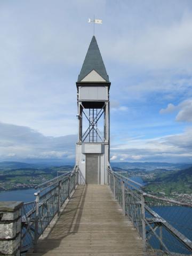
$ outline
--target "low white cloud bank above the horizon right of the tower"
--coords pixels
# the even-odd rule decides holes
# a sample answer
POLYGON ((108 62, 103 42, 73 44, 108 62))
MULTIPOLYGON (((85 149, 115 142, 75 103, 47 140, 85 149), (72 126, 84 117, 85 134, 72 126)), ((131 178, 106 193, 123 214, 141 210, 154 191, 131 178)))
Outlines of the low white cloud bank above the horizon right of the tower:
POLYGON ((181 134, 111 145, 117 161, 192 162, 192 127, 181 134))

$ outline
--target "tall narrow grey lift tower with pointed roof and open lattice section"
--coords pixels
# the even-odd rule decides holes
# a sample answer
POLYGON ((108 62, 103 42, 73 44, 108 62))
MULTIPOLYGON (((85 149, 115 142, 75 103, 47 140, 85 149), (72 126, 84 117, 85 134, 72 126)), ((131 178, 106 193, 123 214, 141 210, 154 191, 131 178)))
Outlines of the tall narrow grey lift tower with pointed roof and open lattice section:
POLYGON ((78 141, 76 165, 86 184, 106 184, 109 164, 110 82, 95 36, 76 82, 78 141))

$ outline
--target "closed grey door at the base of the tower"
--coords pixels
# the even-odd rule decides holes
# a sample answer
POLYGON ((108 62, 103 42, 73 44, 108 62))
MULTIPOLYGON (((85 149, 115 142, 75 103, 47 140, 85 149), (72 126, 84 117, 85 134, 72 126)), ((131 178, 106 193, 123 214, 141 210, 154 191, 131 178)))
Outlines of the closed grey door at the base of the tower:
POLYGON ((86 154, 86 184, 98 184, 98 154, 86 154))

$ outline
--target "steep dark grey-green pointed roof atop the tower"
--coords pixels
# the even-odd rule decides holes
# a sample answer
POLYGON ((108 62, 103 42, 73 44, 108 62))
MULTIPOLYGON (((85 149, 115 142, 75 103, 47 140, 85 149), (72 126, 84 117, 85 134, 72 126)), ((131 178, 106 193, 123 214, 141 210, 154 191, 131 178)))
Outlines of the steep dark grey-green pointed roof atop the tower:
POLYGON ((87 51, 81 72, 78 76, 78 81, 81 82, 84 77, 91 71, 96 71, 106 82, 109 82, 109 76, 106 72, 105 65, 103 63, 101 53, 96 41, 95 36, 92 37, 89 49, 87 51))

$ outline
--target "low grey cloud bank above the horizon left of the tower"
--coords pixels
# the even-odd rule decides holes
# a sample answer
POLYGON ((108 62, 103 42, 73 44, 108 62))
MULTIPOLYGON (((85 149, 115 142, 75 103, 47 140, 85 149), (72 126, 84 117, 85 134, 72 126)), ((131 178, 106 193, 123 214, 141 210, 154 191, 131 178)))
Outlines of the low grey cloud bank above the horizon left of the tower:
POLYGON ((0 160, 75 160, 77 135, 44 136, 25 126, 0 123, 0 160))

